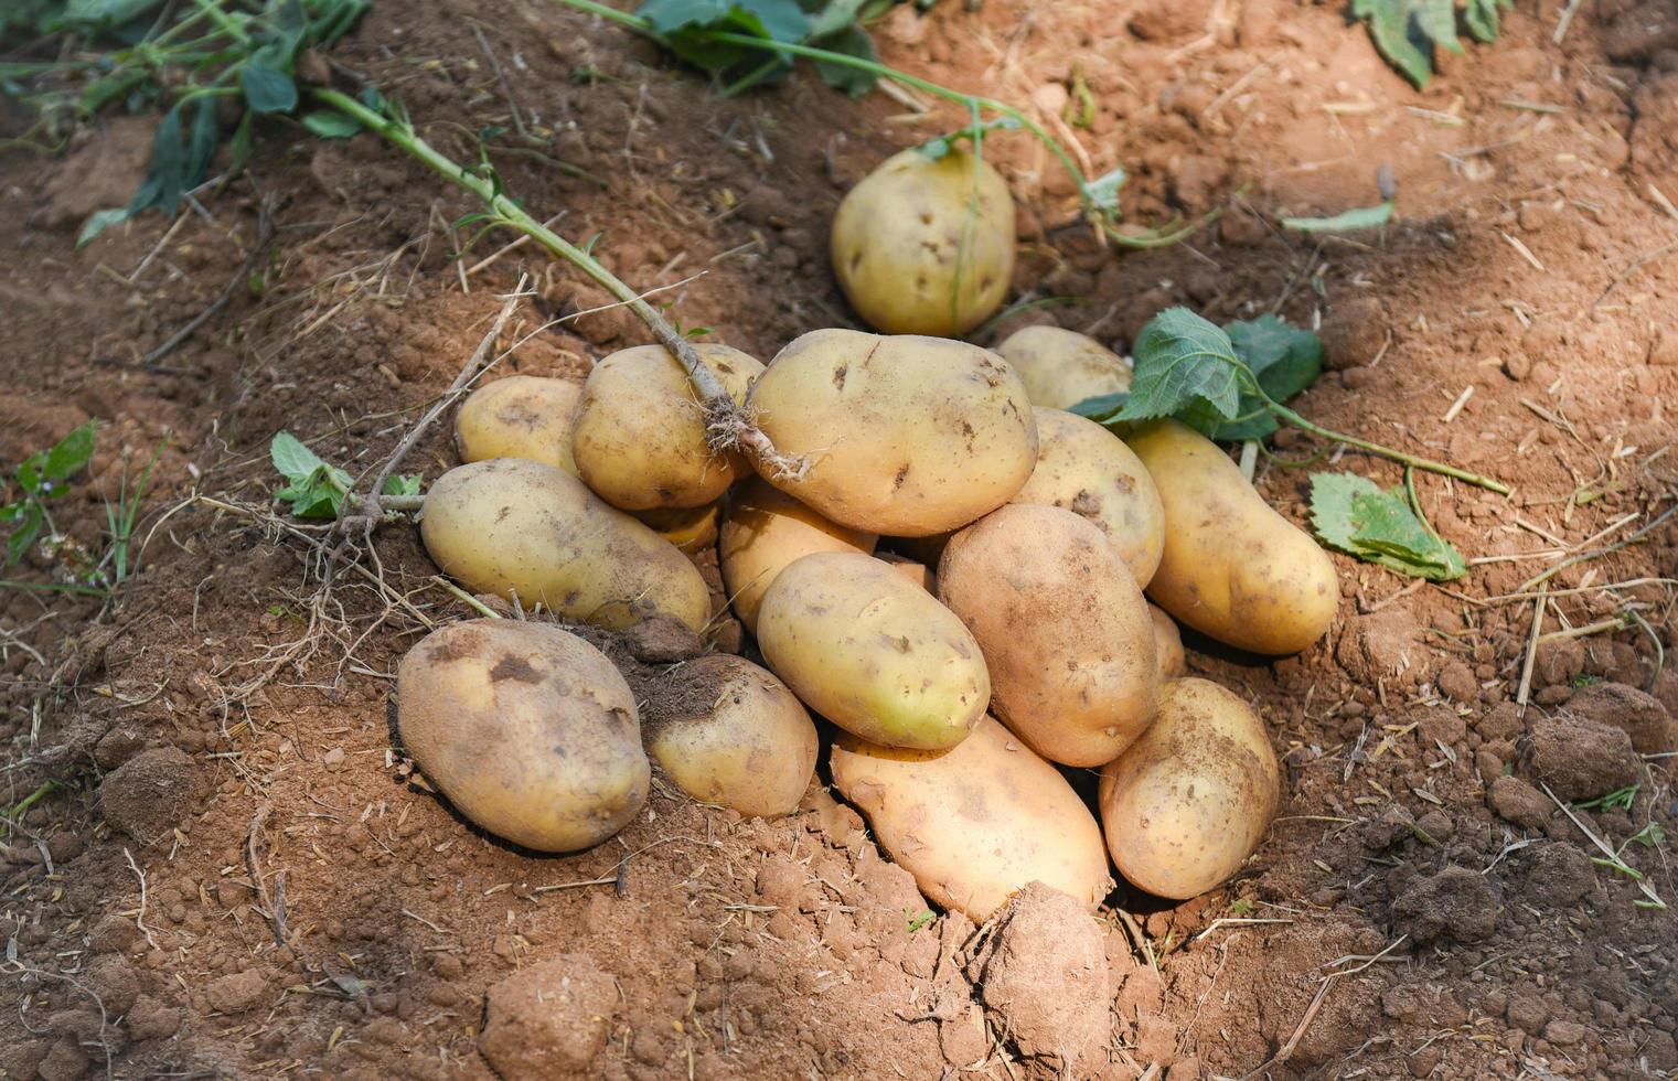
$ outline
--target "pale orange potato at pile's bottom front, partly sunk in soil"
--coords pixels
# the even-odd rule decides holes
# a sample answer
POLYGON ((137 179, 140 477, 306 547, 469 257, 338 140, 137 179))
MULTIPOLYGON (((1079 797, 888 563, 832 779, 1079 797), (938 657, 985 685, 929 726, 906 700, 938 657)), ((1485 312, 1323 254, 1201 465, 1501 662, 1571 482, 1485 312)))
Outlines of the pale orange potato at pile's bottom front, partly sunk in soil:
POLYGON ((983 717, 953 750, 834 737, 834 787, 936 905, 983 923, 1034 881, 1094 908, 1113 880, 1096 817, 1055 767, 983 717))

